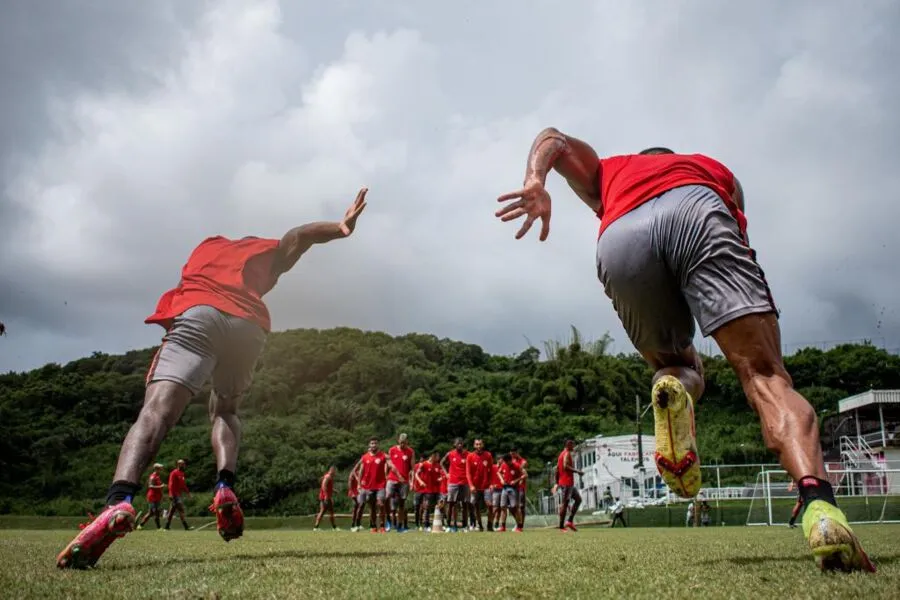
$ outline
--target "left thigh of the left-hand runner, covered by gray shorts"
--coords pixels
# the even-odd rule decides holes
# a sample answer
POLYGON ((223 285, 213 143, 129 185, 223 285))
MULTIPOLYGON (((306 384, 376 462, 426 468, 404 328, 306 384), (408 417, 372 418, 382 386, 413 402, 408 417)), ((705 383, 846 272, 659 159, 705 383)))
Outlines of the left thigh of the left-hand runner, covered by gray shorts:
POLYGON ((173 381, 197 394, 216 367, 220 318, 210 306, 194 306, 175 317, 147 371, 147 385, 173 381))

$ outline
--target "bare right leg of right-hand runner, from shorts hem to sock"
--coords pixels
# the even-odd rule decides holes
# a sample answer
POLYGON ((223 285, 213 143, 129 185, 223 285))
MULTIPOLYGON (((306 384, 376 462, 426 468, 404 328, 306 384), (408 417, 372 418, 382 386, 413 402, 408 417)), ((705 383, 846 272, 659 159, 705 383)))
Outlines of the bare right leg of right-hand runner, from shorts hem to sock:
POLYGON ((713 332, 750 406, 763 440, 794 481, 825 479, 819 424, 812 405, 797 393, 781 357, 781 333, 773 313, 751 314, 713 332))

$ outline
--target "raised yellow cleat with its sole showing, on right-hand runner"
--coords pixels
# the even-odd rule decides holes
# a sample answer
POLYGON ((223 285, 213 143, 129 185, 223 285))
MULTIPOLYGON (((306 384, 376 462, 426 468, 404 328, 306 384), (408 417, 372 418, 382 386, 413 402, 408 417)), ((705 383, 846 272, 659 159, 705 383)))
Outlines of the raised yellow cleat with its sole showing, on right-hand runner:
POLYGON ((684 385, 663 375, 653 386, 653 417, 656 421, 656 467, 675 494, 693 498, 700 492, 702 477, 694 430, 694 401, 684 385))

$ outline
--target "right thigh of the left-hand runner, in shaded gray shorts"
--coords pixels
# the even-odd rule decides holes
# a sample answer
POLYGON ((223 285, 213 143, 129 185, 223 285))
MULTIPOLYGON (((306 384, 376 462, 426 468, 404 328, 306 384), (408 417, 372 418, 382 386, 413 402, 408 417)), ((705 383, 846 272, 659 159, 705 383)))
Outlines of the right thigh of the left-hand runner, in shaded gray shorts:
POLYGON ((253 383, 256 363, 266 345, 266 332, 250 321, 227 316, 219 363, 213 372, 210 412, 235 412, 253 383))

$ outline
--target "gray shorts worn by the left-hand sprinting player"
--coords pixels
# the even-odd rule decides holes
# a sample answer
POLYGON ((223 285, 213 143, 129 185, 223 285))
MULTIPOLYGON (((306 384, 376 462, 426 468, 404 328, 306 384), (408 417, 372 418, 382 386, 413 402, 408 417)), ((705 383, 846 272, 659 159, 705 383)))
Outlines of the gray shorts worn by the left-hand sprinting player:
POLYGON ((250 388, 266 343, 259 325, 211 306, 194 306, 175 317, 147 372, 147 384, 174 381, 197 394, 212 378, 211 406, 238 401, 250 388))

